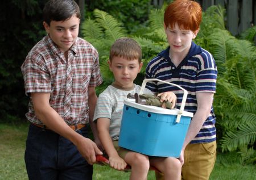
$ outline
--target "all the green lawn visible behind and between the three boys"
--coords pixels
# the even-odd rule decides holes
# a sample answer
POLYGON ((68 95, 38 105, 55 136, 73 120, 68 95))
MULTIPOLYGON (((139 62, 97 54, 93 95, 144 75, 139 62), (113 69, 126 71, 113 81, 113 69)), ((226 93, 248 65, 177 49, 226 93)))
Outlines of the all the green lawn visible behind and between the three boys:
MULTIPOLYGON (((0 179, 28 179, 24 164, 27 124, 0 124, 0 179)), ((94 165, 94 180, 129 179, 130 173, 113 170, 107 166, 94 165)), ((210 180, 254 180, 255 165, 241 165, 233 153, 219 153, 210 180)), ((155 179, 154 171, 148 180, 155 179)))

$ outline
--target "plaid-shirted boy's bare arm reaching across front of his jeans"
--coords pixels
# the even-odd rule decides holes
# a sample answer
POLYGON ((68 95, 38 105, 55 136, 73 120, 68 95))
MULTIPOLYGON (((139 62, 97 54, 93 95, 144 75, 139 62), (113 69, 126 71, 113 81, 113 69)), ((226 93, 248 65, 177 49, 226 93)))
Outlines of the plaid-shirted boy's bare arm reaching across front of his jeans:
POLYGON ((50 106, 49 93, 31 93, 36 116, 52 131, 72 141, 89 164, 96 162, 96 154, 102 154, 90 139, 73 131, 61 116, 50 106))

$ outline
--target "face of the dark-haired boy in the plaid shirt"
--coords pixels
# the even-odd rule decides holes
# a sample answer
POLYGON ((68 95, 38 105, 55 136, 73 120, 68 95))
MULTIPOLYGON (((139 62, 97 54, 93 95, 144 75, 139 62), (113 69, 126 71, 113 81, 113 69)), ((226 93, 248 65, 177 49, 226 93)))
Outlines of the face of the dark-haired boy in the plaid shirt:
POLYGON ((43 25, 53 42, 61 51, 66 52, 79 34, 79 23, 80 19, 74 15, 64 21, 52 20, 50 26, 46 22, 43 22, 43 25))

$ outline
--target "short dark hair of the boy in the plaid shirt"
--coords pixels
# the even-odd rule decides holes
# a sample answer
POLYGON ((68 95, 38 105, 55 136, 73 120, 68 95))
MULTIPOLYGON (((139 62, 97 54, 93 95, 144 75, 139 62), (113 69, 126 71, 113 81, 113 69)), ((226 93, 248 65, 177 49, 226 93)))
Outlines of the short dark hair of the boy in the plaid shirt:
POLYGON ((75 15, 80 19, 80 9, 73 0, 49 0, 43 9, 43 20, 50 26, 52 20, 64 21, 75 15))

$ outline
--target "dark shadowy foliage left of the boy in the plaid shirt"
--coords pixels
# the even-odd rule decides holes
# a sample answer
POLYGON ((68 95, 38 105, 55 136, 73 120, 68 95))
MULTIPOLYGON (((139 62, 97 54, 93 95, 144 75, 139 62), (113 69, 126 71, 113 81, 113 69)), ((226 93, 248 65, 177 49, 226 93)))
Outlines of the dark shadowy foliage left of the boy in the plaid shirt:
POLYGON ((0 122, 24 121, 24 95, 20 65, 45 32, 41 13, 45 1, 2 1, 0 6, 0 122))

